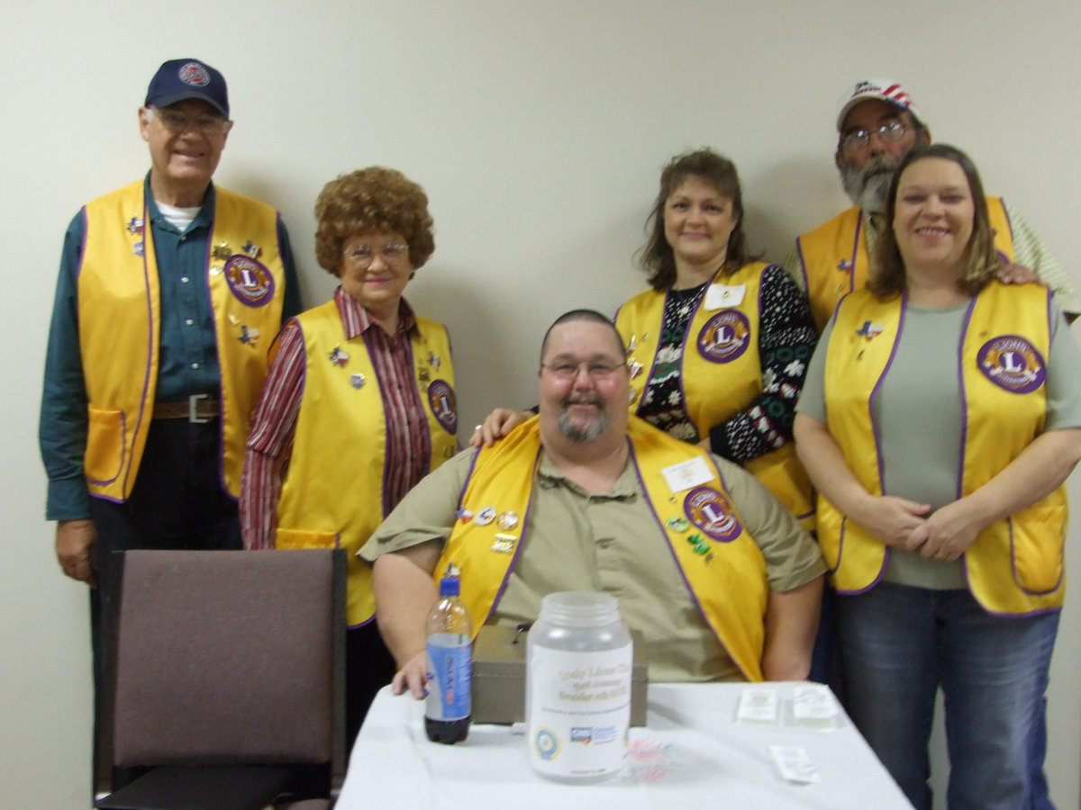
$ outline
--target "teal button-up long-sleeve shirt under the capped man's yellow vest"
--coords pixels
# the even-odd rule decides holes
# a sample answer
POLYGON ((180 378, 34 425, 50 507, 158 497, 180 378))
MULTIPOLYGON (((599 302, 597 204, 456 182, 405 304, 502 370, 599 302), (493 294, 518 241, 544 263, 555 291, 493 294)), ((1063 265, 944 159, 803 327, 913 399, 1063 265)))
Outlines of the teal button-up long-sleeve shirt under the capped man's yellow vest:
MULTIPOLYGON (((214 221, 214 186, 211 185, 202 208, 183 232, 162 216, 149 186, 146 194, 161 285, 156 399, 158 402, 181 402, 192 394, 213 394, 221 388, 221 366, 205 261, 206 242, 214 221)), ((45 518, 50 521, 90 516, 90 495, 82 467, 86 447, 86 388, 79 349, 78 303, 84 233, 85 220, 80 211, 64 237, 45 353, 38 437, 49 475, 45 518)), ((285 272, 284 321, 299 313, 301 295, 289 233, 280 217, 278 240, 285 272)))

